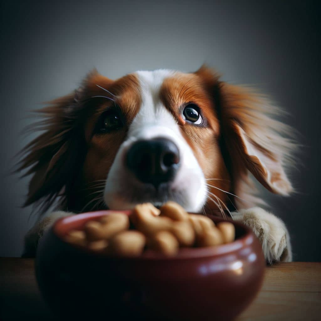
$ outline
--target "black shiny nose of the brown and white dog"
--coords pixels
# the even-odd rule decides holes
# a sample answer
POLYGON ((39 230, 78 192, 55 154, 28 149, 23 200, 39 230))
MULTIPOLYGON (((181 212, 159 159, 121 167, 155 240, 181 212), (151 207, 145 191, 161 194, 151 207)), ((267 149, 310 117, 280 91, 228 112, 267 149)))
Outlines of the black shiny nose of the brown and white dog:
POLYGON ((158 187, 175 177, 179 168, 179 151, 166 138, 140 140, 128 150, 126 165, 141 182, 158 187))

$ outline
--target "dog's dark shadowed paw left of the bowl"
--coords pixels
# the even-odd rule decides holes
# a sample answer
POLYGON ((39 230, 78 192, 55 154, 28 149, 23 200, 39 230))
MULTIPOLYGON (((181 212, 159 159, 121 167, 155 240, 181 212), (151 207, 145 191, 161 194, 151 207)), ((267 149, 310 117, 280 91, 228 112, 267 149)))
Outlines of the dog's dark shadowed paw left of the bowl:
POLYGON ((70 216, 74 213, 63 211, 53 212, 46 216, 43 220, 37 222, 32 229, 28 231, 24 238, 24 250, 22 257, 35 257, 39 239, 42 238, 44 232, 61 217, 70 216))

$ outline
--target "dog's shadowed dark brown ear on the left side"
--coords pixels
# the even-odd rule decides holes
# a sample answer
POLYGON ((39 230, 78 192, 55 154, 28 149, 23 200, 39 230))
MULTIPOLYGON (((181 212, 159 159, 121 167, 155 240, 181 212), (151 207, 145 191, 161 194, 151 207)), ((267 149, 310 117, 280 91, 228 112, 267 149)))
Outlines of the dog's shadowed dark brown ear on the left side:
MULTIPOLYGON (((72 187, 86 153, 82 122, 91 103, 87 98, 97 90, 95 83, 102 84, 102 81, 110 80, 94 70, 74 93, 53 100, 47 107, 36 111, 42 120, 33 125, 32 131, 42 131, 42 134, 18 154, 22 160, 16 171, 29 168, 23 176, 32 175, 24 206, 40 203, 45 211, 57 196, 65 195, 72 187)), ((62 197, 61 202, 64 200, 62 197)))

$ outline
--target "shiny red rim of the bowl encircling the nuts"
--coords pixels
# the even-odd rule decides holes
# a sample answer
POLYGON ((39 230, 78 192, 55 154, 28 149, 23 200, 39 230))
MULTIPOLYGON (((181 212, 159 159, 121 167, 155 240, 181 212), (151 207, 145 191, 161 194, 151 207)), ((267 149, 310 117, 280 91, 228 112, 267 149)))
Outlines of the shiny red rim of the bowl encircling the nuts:
MULTIPOLYGON (((227 244, 221 244, 218 246, 213 247, 183 247, 178 250, 178 253, 176 256, 165 256, 161 253, 157 253, 152 250, 146 250, 143 252, 140 256, 111 256, 108 253, 104 252, 94 252, 87 247, 77 246, 74 244, 70 244, 67 241, 65 241, 64 236, 67 233, 67 231, 71 230, 70 227, 71 224, 73 224, 75 221, 81 221, 86 222, 91 219, 98 219, 101 216, 108 215, 111 212, 115 213, 125 213, 126 215, 129 215, 132 213, 131 210, 104 210, 104 211, 96 211, 96 212, 88 212, 88 213, 81 213, 81 214, 75 214, 71 216, 66 216, 58 219, 52 226, 52 231, 60 239, 63 243, 66 245, 69 245, 70 247, 73 247, 75 249, 78 249, 86 254, 94 255, 94 256, 100 256, 105 258, 112 258, 112 259, 122 259, 122 260, 182 260, 182 259, 196 259, 196 258, 205 258, 205 257, 217 257, 221 255, 226 254, 233 254, 233 252, 236 252, 244 247, 250 246, 255 242, 256 236, 248 228, 246 225, 240 223, 239 221, 233 221, 231 219, 224 219, 221 217, 216 217, 214 215, 207 215, 209 218, 211 218, 214 221, 217 222, 223 222, 223 221, 229 221, 233 225, 245 230, 245 233, 243 236, 239 237, 238 239, 234 240, 231 243, 227 244)), ((203 215, 201 213, 190 213, 190 214, 197 214, 197 215, 203 215)))

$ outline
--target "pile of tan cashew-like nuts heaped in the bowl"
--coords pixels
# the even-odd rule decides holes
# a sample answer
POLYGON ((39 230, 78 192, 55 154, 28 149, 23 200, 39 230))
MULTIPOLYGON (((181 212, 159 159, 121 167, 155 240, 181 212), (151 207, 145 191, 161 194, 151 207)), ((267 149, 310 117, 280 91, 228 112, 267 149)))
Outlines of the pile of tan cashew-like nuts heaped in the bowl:
POLYGON ((214 222, 198 214, 188 214, 175 202, 157 209, 139 204, 129 216, 111 212, 100 221, 89 221, 84 230, 72 230, 65 237, 71 244, 117 256, 139 256, 145 248, 166 256, 179 247, 210 247, 234 241, 230 222, 214 222))

